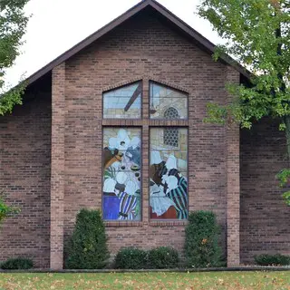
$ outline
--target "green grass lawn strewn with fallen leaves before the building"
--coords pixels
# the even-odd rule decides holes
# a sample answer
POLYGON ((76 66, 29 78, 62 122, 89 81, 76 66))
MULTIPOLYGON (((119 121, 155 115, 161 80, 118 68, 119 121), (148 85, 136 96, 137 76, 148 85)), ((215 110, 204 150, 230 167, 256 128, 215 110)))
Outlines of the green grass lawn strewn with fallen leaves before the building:
POLYGON ((0 274, 0 289, 278 289, 290 272, 0 274))

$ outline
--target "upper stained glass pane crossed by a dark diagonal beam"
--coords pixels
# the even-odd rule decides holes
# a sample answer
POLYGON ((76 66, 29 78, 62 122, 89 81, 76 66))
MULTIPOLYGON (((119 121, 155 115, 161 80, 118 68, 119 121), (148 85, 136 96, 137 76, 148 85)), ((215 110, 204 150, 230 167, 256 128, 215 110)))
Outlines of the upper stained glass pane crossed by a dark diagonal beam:
POLYGON ((141 93, 141 82, 104 92, 103 118, 139 119, 141 116, 141 93))

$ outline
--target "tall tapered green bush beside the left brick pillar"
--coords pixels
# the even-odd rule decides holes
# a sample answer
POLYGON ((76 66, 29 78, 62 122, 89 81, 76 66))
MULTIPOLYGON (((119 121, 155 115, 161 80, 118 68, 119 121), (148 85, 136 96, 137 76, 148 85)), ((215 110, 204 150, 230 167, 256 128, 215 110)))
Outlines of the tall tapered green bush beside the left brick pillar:
POLYGON ((108 257, 101 212, 82 209, 77 215, 73 236, 65 247, 65 267, 100 269, 106 266, 108 257))

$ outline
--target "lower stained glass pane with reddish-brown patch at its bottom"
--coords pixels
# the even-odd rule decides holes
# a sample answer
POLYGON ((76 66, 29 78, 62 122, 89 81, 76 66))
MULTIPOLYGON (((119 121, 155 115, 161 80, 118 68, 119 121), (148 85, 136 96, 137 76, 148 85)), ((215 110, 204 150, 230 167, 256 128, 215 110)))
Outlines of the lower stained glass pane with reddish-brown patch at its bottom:
POLYGON ((186 219, 188 196, 188 130, 150 129, 150 218, 186 219), (178 139, 167 144, 164 136, 174 131, 178 139))

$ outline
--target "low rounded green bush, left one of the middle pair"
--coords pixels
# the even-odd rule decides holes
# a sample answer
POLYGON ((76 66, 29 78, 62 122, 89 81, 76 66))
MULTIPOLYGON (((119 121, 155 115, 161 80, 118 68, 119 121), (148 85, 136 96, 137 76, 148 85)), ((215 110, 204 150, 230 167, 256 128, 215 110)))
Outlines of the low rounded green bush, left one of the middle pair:
POLYGON ((115 257, 115 267, 117 269, 146 269, 147 256, 147 252, 139 248, 124 247, 115 257))

